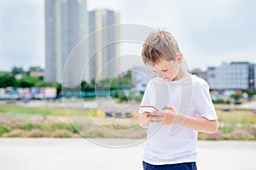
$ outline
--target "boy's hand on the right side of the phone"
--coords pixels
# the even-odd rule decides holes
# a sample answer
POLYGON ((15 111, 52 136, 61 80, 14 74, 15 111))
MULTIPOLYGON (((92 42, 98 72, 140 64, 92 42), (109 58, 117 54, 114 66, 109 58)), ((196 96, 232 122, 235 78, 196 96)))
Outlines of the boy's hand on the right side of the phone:
POLYGON ((170 125, 173 123, 177 111, 172 105, 165 105, 163 111, 155 111, 150 114, 149 122, 164 123, 170 125))

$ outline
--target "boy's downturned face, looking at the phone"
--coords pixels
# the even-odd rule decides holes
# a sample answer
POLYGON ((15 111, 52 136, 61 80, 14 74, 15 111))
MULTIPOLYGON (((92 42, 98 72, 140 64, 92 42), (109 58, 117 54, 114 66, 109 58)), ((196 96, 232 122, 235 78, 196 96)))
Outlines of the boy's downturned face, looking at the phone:
POLYGON ((180 68, 181 59, 168 61, 161 59, 160 62, 154 66, 149 66, 150 70, 160 78, 163 78, 166 82, 178 80, 177 73, 180 68))

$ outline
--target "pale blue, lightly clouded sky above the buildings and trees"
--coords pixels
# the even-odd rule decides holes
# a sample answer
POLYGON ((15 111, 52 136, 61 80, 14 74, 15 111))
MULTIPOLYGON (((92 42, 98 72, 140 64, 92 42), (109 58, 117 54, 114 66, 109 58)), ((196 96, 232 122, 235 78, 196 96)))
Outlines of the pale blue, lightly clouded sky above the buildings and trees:
MULTIPOLYGON (((205 70, 207 66, 231 61, 256 64, 256 1, 88 0, 87 3, 89 10, 109 8, 119 12, 121 24, 166 28, 176 37, 190 69, 205 70)), ((9 71, 13 66, 44 67, 44 43, 44 0, 0 0, 0 71, 9 71)), ((124 43, 121 54, 139 56, 140 50, 140 44, 124 43)), ((141 59, 132 59, 136 62, 124 60, 121 68, 142 65, 141 59)))

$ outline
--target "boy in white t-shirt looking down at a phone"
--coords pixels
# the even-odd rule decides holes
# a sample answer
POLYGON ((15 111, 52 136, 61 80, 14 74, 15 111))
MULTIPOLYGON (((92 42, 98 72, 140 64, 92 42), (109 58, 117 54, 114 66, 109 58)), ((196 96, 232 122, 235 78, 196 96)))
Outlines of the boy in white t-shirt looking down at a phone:
POLYGON ((149 34, 142 56, 157 78, 148 82, 141 105, 158 109, 139 111, 139 124, 148 127, 143 169, 195 170, 197 132, 218 131, 209 86, 183 69, 183 54, 168 31, 149 34))

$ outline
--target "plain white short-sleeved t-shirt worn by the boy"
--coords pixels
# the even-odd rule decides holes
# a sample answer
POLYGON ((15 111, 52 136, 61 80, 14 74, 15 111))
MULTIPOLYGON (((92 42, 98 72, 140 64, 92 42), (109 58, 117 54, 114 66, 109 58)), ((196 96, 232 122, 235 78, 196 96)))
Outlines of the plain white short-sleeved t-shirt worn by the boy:
MULTIPOLYGON (((158 77, 150 80, 141 105, 154 105, 160 111, 172 105, 178 113, 218 119, 207 82, 194 75, 172 82, 158 77)), ((147 134, 143 161, 153 165, 196 161, 197 131, 178 124, 149 123, 147 134)))

